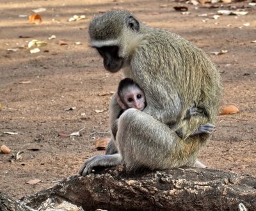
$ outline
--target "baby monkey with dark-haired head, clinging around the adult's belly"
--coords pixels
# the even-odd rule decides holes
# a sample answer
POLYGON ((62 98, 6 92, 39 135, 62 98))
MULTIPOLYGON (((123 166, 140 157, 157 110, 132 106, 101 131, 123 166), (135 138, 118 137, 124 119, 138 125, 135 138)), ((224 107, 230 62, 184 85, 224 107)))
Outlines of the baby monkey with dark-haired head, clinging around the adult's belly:
MULTIPOLYGON (((124 78, 123 80, 120 81, 118 85, 117 94, 116 94, 116 101, 123 109, 120 112, 120 115, 128 108, 136 108, 142 112, 144 108, 147 106, 144 92, 139 87, 139 85, 136 84, 131 78, 124 78)), ((189 119, 192 115, 196 115, 198 113, 200 113, 200 109, 196 108, 196 106, 191 106, 191 108, 188 109, 188 112, 185 118, 189 119)), ((203 124, 196 131, 194 131, 192 135, 198 135, 200 133, 211 134, 213 129, 214 129, 214 125, 209 123, 203 124)), ((179 135, 179 136, 182 136, 182 135, 179 135)), ((195 166, 198 168, 206 167, 198 159, 196 159, 195 166)))

